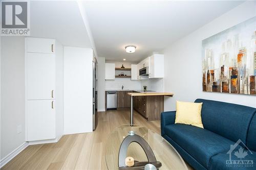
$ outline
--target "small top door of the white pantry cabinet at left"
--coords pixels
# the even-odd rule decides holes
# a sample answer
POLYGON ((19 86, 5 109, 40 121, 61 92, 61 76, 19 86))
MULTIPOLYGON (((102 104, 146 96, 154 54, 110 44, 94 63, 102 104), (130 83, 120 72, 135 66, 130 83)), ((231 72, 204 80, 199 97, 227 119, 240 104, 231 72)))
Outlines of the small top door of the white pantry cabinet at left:
POLYGON ((55 40, 47 38, 27 38, 28 53, 55 53, 55 40))

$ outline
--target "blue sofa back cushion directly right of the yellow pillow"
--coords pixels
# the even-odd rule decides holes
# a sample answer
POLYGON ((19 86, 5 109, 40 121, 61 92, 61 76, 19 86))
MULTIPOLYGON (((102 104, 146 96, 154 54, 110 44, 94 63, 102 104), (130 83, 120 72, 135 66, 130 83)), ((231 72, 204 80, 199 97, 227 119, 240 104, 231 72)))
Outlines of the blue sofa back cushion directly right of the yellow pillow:
POLYGON ((203 102, 201 115, 205 129, 234 142, 241 139, 246 143, 247 131, 255 108, 204 99, 197 99, 195 102, 203 102))

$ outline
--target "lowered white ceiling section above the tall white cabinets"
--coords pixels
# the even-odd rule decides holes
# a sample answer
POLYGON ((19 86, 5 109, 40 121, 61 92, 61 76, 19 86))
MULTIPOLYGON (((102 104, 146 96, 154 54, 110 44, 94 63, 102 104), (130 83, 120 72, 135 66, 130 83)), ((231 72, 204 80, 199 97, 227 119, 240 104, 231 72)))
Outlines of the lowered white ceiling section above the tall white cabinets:
POLYGON ((76 1, 31 1, 32 37, 53 38, 66 46, 92 47, 76 1))

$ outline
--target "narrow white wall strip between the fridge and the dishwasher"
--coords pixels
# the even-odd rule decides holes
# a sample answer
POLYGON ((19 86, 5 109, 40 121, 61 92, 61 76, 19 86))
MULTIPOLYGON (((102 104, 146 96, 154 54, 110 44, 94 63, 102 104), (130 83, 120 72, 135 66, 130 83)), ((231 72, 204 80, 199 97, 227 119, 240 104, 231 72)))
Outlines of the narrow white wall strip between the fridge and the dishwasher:
POLYGON ((105 58, 98 57, 98 80, 97 80, 97 91, 98 91, 98 111, 105 111, 105 58))

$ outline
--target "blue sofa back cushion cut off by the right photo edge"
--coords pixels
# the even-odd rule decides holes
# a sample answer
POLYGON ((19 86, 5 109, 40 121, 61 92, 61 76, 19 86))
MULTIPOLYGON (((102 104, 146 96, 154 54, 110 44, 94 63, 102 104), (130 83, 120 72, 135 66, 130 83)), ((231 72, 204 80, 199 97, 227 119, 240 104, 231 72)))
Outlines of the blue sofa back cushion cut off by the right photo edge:
POLYGON ((249 150, 256 151, 256 113, 254 114, 250 123, 246 145, 249 150))

